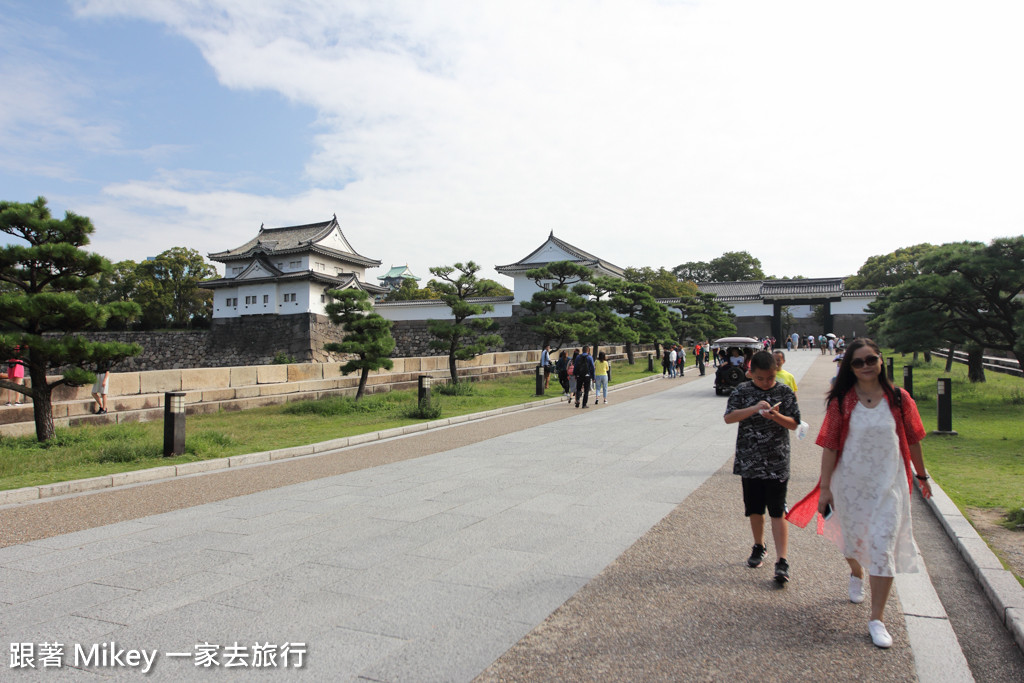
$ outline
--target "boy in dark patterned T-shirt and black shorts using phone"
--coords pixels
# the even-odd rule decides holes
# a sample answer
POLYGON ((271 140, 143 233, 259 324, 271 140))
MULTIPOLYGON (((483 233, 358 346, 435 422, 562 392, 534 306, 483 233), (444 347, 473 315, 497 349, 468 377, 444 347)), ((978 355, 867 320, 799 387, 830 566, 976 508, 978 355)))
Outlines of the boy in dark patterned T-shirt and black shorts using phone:
POLYGON ((764 564, 765 510, 771 517, 775 542, 775 581, 790 581, 790 545, 785 513, 786 485, 790 481, 790 430, 800 426, 800 407, 793 389, 775 379, 775 358, 768 351, 758 351, 751 359, 751 381, 743 382, 729 394, 725 423, 739 423, 736 432, 736 459, 732 473, 742 480, 743 508, 751 520, 754 548, 746 564, 764 564))

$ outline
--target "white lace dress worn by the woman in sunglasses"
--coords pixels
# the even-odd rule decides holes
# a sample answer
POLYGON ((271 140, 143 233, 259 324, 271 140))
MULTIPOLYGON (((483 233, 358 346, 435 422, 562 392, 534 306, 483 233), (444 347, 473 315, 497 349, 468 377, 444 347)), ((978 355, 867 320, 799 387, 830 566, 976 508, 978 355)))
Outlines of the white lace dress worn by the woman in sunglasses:
POLYGON ((831 478, 836 514, 824 535, 874 577, 918 571, 910 494, 896 423, 885 399, 850 414, 843 455, 831 478))

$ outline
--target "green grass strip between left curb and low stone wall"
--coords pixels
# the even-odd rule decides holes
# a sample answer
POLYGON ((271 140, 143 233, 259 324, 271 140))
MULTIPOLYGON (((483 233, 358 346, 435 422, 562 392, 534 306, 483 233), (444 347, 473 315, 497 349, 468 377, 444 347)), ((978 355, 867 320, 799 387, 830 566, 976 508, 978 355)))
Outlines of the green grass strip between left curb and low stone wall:
MULTIPOLYGON (((657 368, 660 372, 660 367, 657 368)), ((630 366, 613 362, 613 384, 649 376, 646 359, 630 366)), ((469 395, 440 395, 440 418, 541 400, 532 375, 471 383, 469 395)), ((552 376, 546 398, 561 389, 552 376)), ((0 436, 0 490, 84 479, 162 465, 226 458, 285 449, 420 422, 415 391, 371 394, 359 401, 331 397, 258 408, 241 413, 189 416, 185 455, 164 458, 163 421, 120 425, 83 425, 57 429, 54 439, 0 436)))

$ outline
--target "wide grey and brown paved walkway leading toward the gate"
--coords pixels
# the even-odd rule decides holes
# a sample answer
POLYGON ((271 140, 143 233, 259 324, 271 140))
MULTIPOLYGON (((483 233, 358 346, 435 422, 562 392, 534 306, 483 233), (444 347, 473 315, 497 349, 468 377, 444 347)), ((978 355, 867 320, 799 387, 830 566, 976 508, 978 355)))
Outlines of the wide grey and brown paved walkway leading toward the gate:
MULTIPOLYGON (((820 395, 830 365, 790 357, 802 395, 820 395)), ((724 401, 688 376, 587 411, 0 510, 2 640, 65 645, 60 670, 6 673, 139 676, 69 668, 75 644, 115 642, 156 650, 148 679, 190 680, 211 674, 194 664, 209 643, 217 673, 241 676, 226 648, 252 665, 259 643, 276 646, 275 680, 911 680, 930 677, 923 658, 969 680, 927 581, 900 586, 883 652, 813 533, 792 533, 786 588, 745 567, 724 401), (123 521, 95 526, 104 507, 123 521), (907 598, 929 642, 904 627, 907 598), (286 643, 304 644, 303 669, 280 666, 286 643)), ((793 500, 816 477, 810 440, 793 500)))

